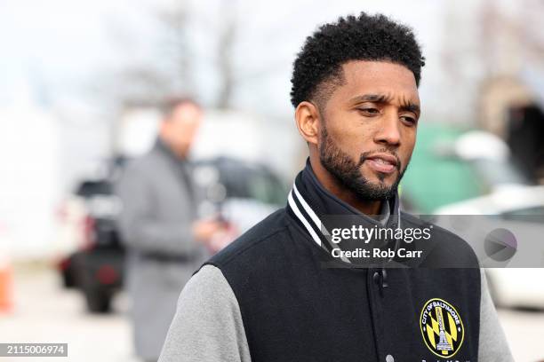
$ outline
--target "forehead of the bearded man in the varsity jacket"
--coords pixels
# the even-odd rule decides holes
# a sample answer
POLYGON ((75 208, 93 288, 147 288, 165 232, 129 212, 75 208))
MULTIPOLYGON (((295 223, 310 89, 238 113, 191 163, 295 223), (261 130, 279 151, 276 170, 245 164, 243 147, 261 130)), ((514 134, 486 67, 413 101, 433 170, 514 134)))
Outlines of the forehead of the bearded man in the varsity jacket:
POLYGON ((349 61, 342 66, 345 82, 332 98, 348 101, 364 94, 383 94, 393 101, 420 103, 415 77, 407 67, 385 61, 349 61))

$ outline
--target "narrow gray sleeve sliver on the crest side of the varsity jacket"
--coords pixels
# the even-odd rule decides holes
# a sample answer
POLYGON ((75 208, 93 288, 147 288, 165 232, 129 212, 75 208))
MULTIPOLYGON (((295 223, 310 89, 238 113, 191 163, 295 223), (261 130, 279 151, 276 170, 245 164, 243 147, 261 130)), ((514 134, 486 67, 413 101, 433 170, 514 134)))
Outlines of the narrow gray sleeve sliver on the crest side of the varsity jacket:
POLYGON ((478 361, 480 362, 514 362, 508 348, 508 342, 500 327, 499 317, 492 302, 487 279, 482 268, 482 293, 480 300, 480 339, 478 361))

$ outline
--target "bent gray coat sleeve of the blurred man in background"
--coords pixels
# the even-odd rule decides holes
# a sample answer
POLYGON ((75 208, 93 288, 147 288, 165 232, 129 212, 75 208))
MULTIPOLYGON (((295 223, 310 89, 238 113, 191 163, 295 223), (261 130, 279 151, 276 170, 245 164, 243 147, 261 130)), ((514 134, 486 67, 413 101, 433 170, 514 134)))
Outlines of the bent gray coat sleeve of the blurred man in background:
POLYGON ((186 255, 194 252, 189 223, 154 216, 151 180, 139 169, 128 168, 116 184, 122 210, 117 224, 123 242, 144 253, 186 255))

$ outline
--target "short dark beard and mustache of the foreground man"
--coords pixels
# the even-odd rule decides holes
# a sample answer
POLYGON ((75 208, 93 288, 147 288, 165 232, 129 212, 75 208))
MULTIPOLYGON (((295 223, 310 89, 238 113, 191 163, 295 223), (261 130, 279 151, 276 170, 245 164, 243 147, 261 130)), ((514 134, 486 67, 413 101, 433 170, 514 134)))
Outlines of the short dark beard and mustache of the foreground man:
POLYGON ((391 153, 387 148, 380 149, 374 152, 364 152, 359 156, 358 161, 353 161, 347 153, 344 153, 339 146, 337 146, 329 134, 326 128, 323 128, 321 132, 321 142, 319 144, 319 160, 324 166, 324 169, 331 173, 340 185, 347 188, 354 193, 357 199, 361 201, 384 201, 393 199, 398 189, 398 184, 404 176, 405 168, 401 171, 402 165, 398 156, 395 153, 391 153), (386 185, 384 183, 385 175, 378 173, 378 184, 372 183, 368 178, 364 177, 361 173, 361 167, 364 161, 372 155, 372 153, 389 153, 396 157, 396 169, 398 170, 397 177, 393 185, 386 185))

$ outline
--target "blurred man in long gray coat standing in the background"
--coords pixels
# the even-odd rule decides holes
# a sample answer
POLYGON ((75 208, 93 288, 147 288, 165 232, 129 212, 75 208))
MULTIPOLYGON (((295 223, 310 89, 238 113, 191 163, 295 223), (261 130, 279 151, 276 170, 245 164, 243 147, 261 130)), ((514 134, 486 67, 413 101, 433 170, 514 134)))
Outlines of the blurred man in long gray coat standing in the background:
POLYGON ((116 187, 136 352, 146 361, 158 358, 180 290, 206 257, 197 241, 220 230, 220 223, 196 222, 187 156, 201 119, 202 109, 190 99, 166 102, 155 146, 129 164, 116 187))

